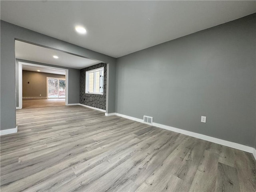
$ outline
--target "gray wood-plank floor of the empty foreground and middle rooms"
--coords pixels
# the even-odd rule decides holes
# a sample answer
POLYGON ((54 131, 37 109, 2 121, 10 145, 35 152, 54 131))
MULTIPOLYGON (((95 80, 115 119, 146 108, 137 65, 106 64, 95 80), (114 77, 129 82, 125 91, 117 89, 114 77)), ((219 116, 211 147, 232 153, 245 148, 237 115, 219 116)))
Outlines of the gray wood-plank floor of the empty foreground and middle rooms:
POLYGON ((252 154, 83 106, 17 110, 1 191, 256 191, 252 154))

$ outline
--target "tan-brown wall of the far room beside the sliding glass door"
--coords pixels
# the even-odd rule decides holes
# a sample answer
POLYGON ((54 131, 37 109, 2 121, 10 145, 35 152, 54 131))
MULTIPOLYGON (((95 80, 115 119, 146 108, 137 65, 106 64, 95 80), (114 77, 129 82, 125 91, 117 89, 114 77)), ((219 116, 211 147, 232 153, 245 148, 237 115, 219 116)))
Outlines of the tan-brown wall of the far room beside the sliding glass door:
POLYGON ((47 77, 65 79, 65 75, 22 70, 22 97, 47 97, 47 77))

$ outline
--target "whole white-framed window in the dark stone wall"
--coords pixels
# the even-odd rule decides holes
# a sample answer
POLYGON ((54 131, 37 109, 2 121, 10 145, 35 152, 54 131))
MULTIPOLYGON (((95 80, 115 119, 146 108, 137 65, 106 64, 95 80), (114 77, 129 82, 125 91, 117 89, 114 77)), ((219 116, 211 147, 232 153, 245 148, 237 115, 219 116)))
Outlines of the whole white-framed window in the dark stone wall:
POLYGON ((86 71, 85 93, 103 95, 104 67, 86 71))

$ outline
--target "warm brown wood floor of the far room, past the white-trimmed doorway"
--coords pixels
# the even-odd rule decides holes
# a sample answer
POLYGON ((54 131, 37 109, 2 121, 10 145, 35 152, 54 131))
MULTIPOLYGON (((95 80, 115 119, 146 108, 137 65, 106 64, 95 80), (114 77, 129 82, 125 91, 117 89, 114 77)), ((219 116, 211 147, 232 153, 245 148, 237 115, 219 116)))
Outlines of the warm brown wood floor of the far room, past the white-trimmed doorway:
POLYGON ((54 99, 22 99, 22 108, 64 106, 65 98, 54 99))

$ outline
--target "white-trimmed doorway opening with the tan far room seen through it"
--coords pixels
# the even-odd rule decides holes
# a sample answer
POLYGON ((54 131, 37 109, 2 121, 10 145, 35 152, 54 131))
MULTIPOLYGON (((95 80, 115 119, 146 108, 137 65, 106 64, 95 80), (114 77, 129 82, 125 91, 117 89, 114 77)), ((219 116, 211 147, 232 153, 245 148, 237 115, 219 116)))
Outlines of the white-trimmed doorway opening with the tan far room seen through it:
POLYGON ((68 69, 18 62, 18 107, 68 104, 68 69))

